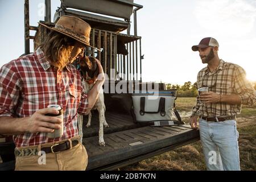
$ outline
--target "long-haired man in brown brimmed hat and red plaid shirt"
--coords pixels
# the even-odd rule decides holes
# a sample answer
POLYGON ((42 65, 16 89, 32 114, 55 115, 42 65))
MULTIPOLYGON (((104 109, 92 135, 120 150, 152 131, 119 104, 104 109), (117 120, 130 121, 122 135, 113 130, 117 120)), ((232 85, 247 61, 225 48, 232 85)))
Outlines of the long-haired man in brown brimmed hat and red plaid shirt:
POLYGON ((75 16, 61 16, 45 42, 30 55, 0 70, 0 134, 14 135, 16 170, 85 170, 88 156, 80 141, 77 113, 88 114, 104 84, 104 72, 85 94, 79 71, 71 63, 90 46, 90 26, 75 16), (47 108, 60 105, 59 111, 47 108), (46 115, 47 114, 47 115, 46 115), (63 135, 48 138, 60 129, 63 135))

